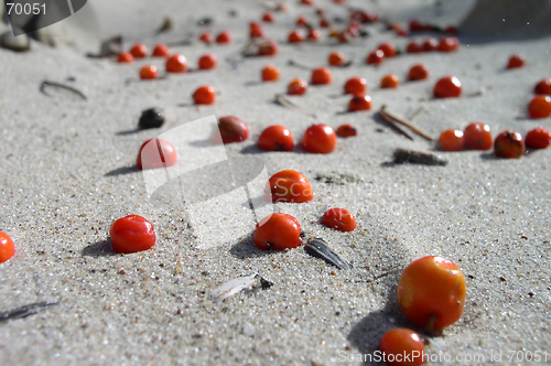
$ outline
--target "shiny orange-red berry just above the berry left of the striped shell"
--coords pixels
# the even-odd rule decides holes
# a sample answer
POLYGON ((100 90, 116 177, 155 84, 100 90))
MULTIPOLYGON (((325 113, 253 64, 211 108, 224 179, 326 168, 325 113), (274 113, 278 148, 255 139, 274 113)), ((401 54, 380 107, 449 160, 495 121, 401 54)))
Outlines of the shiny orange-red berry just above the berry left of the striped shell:
POLYGON ((309 180, 294 170, 283 170, 270 177, 273 203, 304 203, 314 200, 314 191, 309 180))

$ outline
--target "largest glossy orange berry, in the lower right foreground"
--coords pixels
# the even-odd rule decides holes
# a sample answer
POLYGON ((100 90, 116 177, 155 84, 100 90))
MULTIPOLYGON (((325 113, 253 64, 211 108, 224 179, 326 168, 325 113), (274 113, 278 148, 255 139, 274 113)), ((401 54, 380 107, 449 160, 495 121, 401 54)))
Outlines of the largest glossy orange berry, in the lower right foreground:
POLYGON ((406 316, 432 332, 455 323, 463 314, 465 278, 452 261, 436 256, 423 257, 406 267, 397 294, 406 316))

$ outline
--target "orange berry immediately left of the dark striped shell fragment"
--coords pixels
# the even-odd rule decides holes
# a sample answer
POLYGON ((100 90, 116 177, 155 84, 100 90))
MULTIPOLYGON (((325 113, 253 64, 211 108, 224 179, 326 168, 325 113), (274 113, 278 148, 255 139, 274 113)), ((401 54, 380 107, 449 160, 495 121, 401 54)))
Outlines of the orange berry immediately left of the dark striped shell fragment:
POLYGON ((259 249, 284 250, 302 244, 301 225, 291 215, 274 213, 262 218, 255 228, 255 244, 259 249))

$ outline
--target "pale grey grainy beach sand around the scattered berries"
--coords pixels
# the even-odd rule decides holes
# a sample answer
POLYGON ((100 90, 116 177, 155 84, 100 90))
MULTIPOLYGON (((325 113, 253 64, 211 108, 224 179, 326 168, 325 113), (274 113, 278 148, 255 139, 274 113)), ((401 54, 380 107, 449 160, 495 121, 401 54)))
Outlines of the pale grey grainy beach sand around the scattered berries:
MULTIPOLYGON (((365 26, 368 36, 348 44, 337 44, 322 30, 318 43, 291 45, 287 35, 296 18, 317 22, 317 17, 315 7, 288 1, 288 12, 262 23, 268 37, 280 43, 279 54, 244 58, 249 22, 260 21, 274 3, 89 1, 44 30, 55 47, 32 40, 29 52, 0 49, 0 230, 17 246, 15 256, 0 265, 0 312, 56 303, 0 322, 0 365, 361 365, 387 330, 404 326, 423 334, 403 315, 396 289, 403 268, 429 255, 460 266, 467 286, 461 320, 441 335, 423 334, 429 364, 551 364, 551 150, 510 160, 496 159, 491 150, 439 152, 420 137, 410 141, 396 133, 378 117, 386 105, 433 138, 474 121, 488 123, 494 136, 506 129, 522 134, 538 126, 549 129, 551 119, 530 119, 527 105, 536 83, 551 76, 551 35, 534 36, 534 24, 520 26, 522 19, 512 18, 503 20, 515 30, 510 37, 486 37, 472 24, 461 29, 475 1, 349 0, 338 6, 316 0, 329 19, 347 21, 347 7, 358 7, 403 26, 418 19, 460 26, 468 35, 460 33, 456 52, 401 54, 374 67, 365 57, 381 42, 404 50, 410 40, 442 34, 401 37, 377 22, 365 26), (166 17, 172 29, 155 34, 166 17), (198 25, 205 18, 210 23, 198 25), (233 43, 199 43, 205 30, 228 30, 233 43), (123 36, 126 50, 134 42, 152 47, 191 41, 171 49, 184 54, 194 71, 145 82, 138 77, 140 66, 155 64, 164 75, 164 60, 121 65, 112 57, 85 56, 115 35, 123 36), (331 68, 331 85, 288 97, 300 109, 274 103, 292 78, 310 79, 310 71, 289 60, 325 66, 332 50, 353 62, 331 68), (216 69, 196 71, 205 53, 217 55, 216 69), (525 67, 506 69, 517 53, 526 56, 525 67), (417 63, 426 65, 429 79, 407 82, 417 63), (260 82, 267 64, 280 67, 279 82, 260 82), (388 73, 399 76, 397 89, 380 88, 388 73), (370 111, 346 112, 349 97, 343 85, 356 75, 367 79, 370 111), (461 97, 432 97, 445 75, 461 79, 461 97), (40 92, 44 80, 77 88, 87 99, 55 87, 45 95, 40 92), (191 95, 206 84, 217 90, 216 103, 194 106, 191 95), (151 107, 162 108, 166 122, 136 130, 141 111, 151 107), (225 147, 227 157, 260 159, 269 175, 292 169, 310 180, 314 201, 278 203, 273 209, 295 216, 305 238, 323 237, 352 270, 337 270, 302 247, 257 249, 250 220, 241 217, 250 215, 242 194, 224 196, 224 204, 197 200, 193 207, 169 193, 150 200, 145 175, 136 168, 142 142, 213 115, 238 116, 250 128, 249 139, 225 147), (339 138, 329 154, 257 148, 270 125, 287 126, 300 141, 310 125, 322 122, 352 123, 358 136, 339 138), (449 164, 392 164, 397 148, 436 153, 449 164), (358 228, 341 233, 322 226, 321 216, 332 207, 350 211, 358 228), (148 218, 158 241, 150 250, 118 255, 109 228, 130 214, 148 218), (274 284, 224 302, 209 299, 222 283, 256 272, 274 284)), ((549 1, 534 3, 545 4, 549 14, 549 1)), ((501 6, 485 19, 495 22, 501 6)), ((192 142, 176 147, 180 166, 186 159, 216 162, 220 150, 202 150, 205 130, 190 133, 192 142), (190 147, 193 153, 186 153, 190 147)), ((253 165, 233 164, 234 177, 248 181, 253 165)), ((193 201, 224 190, 226 175, 199 172, 183 194, 193 201)))

